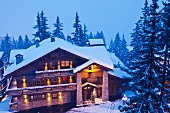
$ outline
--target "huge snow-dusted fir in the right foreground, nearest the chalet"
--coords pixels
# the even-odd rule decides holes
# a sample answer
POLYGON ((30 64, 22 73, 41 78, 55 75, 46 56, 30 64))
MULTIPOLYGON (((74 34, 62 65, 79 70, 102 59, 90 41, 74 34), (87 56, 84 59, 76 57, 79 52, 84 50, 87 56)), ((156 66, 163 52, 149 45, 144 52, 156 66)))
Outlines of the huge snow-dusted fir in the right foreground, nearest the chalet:
MULTIPOLYGON (((140 40, 140 48, 138 47, 139 50, 136 51, 139 56, 131 61, 130 86, 135 92, 135 96, 130 98, 127 103, 130 105, 135 103, 135 105, 120 107, 121 111, 125 110, 127 113, 164 113, 170 110, 166 100, 169 89, 163 85, 162 70, 164 69, 160 66, 161 60, 158 60, 160 57, 157 55, 160 51, 159 40, 161 38, 159 37, 161 23, 157 2, 157 0, 152 0, 152 4, 148 7, 148 2, 145 1, 141 18, 142 26, 137 33, 134 33, 138 34, 136 38, 140 40), (166 89, 166 91, 162 89, 166 89)), ((133 41, 135 48, 138 45, 137 40, 133 41)))

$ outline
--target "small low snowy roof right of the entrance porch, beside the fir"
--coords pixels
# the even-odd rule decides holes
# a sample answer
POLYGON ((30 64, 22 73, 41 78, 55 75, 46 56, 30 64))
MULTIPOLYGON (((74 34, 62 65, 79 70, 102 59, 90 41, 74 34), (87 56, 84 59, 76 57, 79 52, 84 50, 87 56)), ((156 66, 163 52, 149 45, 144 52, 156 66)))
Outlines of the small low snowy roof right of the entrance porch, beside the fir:
POLYGON ((116 76, 116 77, 119 77, 119 78, 128 78, 128 77, 130 77, 129 74, 122 71, 120 68, 114 68, 114 71, 108 71, 108 73, 110 75, 113 75, 113 76, 116 76))

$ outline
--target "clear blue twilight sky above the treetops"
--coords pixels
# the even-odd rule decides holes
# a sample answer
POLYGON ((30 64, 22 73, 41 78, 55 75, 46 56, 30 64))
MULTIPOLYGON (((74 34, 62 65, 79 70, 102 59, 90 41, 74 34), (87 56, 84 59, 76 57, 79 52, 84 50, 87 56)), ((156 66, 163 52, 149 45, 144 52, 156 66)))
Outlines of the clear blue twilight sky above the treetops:
POLYGON ((78 12, 81 24, 96 34, 103 31, 107 42, 115 38, 117 32, 125 34, 130 42, 130 33, 139 17, 145 0, 0 0, 0 36, 12 35, 18 38, 25 34, 33 39, 36 32, 38 11, 44 11, 50 31, 59 16, 64 25, 65 36, 70 35, 78 12))

